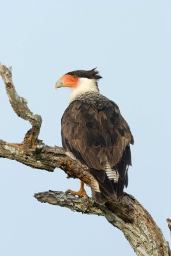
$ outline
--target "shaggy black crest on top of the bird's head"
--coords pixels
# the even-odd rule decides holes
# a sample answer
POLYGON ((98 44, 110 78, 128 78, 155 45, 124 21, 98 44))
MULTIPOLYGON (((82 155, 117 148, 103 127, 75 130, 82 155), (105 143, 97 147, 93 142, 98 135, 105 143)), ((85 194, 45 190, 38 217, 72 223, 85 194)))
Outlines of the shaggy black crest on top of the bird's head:
POLYGON ((78 76, 78 77, 85 77, 88 79, 100 79, 102 78, 99 75, 99 72, 96 70, 96 68, 93 68, 91 70, 75 70, 75 71, 71 71, 66 73, 67 75, 72 75, 72 76, 78 76))

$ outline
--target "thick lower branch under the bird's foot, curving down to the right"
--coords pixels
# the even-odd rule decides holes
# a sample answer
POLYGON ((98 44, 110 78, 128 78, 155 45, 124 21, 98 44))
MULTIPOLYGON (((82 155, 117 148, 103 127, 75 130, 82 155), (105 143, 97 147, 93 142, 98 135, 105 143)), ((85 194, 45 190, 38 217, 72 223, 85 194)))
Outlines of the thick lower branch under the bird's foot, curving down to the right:
POLYGON ((130 195, 124 195, 121 204, 96 204, 92 198, 78 198, 63 192, 36 193, 40 202, 67 207, 71 211, 104 216, 114 227, 123 231, 137 255, 171 255, 167 241, 151 215, 130 195))

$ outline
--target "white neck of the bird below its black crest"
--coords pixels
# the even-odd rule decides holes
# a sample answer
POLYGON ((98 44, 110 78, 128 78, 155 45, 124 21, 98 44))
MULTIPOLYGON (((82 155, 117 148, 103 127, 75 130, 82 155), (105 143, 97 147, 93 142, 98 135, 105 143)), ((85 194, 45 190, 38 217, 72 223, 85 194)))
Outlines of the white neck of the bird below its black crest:
POLYGON ((71 88, 71 96, 69 103, 77 98, 78 95, 85 92, 98 92, 95 79, 79 78, 77 87, 71 88))

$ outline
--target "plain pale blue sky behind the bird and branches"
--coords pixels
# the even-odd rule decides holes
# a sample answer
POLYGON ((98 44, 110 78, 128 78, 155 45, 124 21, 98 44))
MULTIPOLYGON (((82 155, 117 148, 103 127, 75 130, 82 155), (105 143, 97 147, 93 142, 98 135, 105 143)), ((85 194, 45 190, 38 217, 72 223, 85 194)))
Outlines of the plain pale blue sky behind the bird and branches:
MULTIPOLYGON (((151 213, 170 241, 171 2, 0 0, 0 62, 43 124, 39 138, 61 146, 61 116, 70 89, 56 80, 97 67, 100 92, 131 127, 133 166, 127 193, 151 213)), ((20 143, 29 122, 13 111, 0 79, 0 139, 20 143)), ((79 180, 0 159, 0 255, 133 256, 123 233, 105 218, 40 204, 34 193, 78 189, 79 180)))

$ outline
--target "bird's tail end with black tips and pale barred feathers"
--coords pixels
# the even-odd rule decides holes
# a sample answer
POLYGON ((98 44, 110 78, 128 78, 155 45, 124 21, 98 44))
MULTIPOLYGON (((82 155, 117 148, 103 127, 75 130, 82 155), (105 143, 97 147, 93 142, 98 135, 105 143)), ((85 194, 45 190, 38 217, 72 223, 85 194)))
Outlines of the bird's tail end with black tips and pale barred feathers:
POLYGON ((91 169, 94 179, 92 182, 93 198, 98 204, 105 204, 107 200, 121 202, 124 186, 128 186, 128 167, 131 165, 130 147, 124 150, 121 161, 110 167, 107 158, 104 161, 105 170, 91 169))

